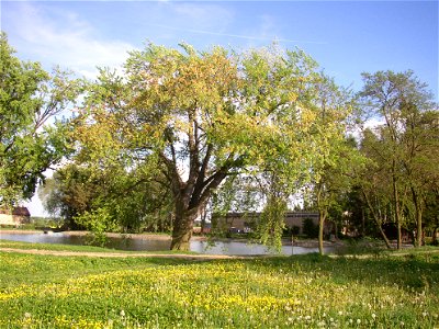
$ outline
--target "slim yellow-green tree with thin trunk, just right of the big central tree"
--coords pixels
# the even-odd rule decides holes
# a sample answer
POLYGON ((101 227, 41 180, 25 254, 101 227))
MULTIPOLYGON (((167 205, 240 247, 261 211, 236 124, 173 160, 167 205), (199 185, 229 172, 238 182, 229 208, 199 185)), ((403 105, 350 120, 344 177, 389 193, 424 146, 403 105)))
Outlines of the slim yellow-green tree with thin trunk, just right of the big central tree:
POLYGON ((328 77, 323 76, 315 99, 315 129, 318 129, 317 147, 320 157, 312 166, 312 193, 319 213, 318 248, 324 253, 324 227, 329 209, 335 208, 340 195, 350 184, 348 172, 354 166, 356 148, 345 137, 347 120, 353 107, 353 99, 328 77))

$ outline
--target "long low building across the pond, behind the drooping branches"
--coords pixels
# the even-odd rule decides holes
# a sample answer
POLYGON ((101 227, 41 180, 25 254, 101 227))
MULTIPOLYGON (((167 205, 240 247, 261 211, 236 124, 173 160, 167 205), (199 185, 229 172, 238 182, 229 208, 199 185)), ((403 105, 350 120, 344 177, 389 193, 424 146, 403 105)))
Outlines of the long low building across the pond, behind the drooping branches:
MULTIPOLYGON (((213 214, 212 226, 222 231, 249 232, 255 229, 261 213, 227 213, 225 216, 213 214)), ((305 219, 311 219, 318 226, 318 213, 316 212, 288 212, 285 214, 285 226, 289 229, 299 230, 299 235, 304 234, 303 227, 305 219)), ((330 232, 331 225, 325 225, 325 235, 330 232)))

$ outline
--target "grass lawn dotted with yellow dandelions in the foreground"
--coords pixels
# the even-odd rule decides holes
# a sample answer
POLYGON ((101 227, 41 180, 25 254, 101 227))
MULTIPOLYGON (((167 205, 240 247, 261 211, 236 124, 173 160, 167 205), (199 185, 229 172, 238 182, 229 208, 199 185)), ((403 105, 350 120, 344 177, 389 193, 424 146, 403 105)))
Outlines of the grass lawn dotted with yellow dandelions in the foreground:
POLYGON ((434 251, 211 261, 0 251, 0 328, 439 328, 434 251))

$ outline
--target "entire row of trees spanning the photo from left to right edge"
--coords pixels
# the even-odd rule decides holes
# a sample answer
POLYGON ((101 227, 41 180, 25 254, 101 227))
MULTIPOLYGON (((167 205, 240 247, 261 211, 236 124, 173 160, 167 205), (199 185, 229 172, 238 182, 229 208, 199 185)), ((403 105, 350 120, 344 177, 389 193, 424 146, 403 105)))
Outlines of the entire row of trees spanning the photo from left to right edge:
POLYGON ((302 50, 147 44, 90 81, 0 43, 2 207, 41 184, 71 228, 170 230, 171 249, 187 250, 207 208, 262 207, 259 238, 279 243, 300 194, 319 213, 322 252, 326 220, 389 247, 389 223, 398 248, 403 229, 416 246, 436 236, 439 116, 413 71, 363 73, 353 92, 302 50))

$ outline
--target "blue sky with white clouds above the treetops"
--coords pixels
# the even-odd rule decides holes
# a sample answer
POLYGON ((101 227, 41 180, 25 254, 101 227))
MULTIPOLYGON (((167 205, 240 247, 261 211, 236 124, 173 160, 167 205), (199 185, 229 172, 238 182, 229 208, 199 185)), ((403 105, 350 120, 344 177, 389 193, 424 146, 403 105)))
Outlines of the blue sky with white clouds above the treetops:
MULTIPOLYGON (((146 41, 198 49, 300 47, 345 87, 361 72, 412 69, 438 101, 438 1, 1 1, 22 59, 93 78, 146 41)), ((31 209, 32 212, 32 209, 31 209)), ((35 213, 35 212, 34 212, 35 213)))

